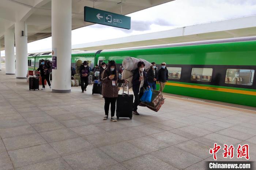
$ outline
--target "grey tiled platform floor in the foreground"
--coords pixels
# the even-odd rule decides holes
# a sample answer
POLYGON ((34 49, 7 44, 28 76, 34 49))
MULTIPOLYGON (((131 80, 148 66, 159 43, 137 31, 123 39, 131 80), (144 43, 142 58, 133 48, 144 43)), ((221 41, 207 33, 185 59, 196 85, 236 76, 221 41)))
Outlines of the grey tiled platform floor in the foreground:
MULTIPOLYGON (((256 161, 256 114, 166 97, 159 112, 103 120, 103 98, 29 91, 0 71, 0 169, 205 169, 214 143, 248 143, 256 161)), ((218 160, 225 161, 222 151, 218 160)), ((233 158, 233 161, 238 160, 233 158)), ((245 160, 245 159, 241 159, 245 160)))

